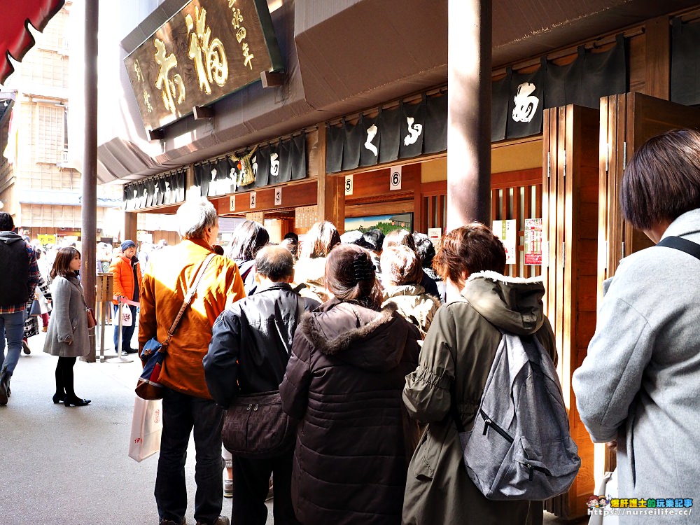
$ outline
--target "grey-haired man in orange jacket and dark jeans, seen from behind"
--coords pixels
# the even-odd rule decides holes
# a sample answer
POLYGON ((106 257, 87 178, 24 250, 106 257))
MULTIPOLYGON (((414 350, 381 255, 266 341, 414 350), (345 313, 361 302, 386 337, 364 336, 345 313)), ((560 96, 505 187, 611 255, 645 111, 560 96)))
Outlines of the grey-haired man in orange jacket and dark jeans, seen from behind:
MULTIPOLYGON (((157 337, 167 339, 197 270, 212 253, 218 216, 206 198, 188 200, 175 215, 182 241, 152 255, 141 295, 139 347, 157 337)), ((221 516, 223 409, 211 398, 202 359, 211 341, 211 327, 226 304, 246 293, 235 262, 215 255, 204 269, 192 302, 170 339, 160 371, 163 388, 163 433, 160 442, 155 501, 160 525, 183 525, 187 512, 185 458, 190 434, 195 440, 195 521, 229 525, 221 516), (194 432, 193 432, 194 430, 194 432)))

